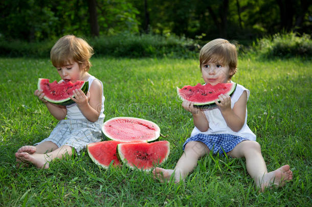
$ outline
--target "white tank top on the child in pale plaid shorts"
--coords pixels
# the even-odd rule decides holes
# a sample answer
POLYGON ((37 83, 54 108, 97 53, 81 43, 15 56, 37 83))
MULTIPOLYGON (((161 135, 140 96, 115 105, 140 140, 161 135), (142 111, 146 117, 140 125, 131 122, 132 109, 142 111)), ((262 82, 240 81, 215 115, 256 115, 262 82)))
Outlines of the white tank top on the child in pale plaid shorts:
MULTIPOLYGON (((88 91, 90 90, 90 87, 91 87, 92 82, 94 80, 98 80, 101 83, 101 85, 102 85, 102 106, 101 106, 101 112, 100 112, 99 119, 100 118, 104 119, 105 118, 105 114, 103 112, 104 112, 104 100, 105 100, 105 97, 103 95, 103 83, 99 79, 95 78, 94 76, 90 76, 88 78, 88 80, 87 80, 89 82, 88 91)), ((85 117, 83 116, 81 110, 79 109, 79 107, 78 107, 78 105, 76 103, 66 106, 66 109, 67 109, 67 118, 68 119, 85 119, 85 117)))

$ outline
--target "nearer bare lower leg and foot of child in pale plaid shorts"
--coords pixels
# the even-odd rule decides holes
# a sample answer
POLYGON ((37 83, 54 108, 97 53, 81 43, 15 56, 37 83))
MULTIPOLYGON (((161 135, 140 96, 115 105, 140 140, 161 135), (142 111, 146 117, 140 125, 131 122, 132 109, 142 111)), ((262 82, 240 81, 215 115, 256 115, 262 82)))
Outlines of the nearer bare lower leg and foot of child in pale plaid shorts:
POLYGON ((64 145, 46 154, 21 152, 19 153, 19 159, 22 162, 32 163, 37 168, 49 168, 49 162, 55 158, 63 158, 66 153, 72 155, 72 149, 71 146, 64 145))

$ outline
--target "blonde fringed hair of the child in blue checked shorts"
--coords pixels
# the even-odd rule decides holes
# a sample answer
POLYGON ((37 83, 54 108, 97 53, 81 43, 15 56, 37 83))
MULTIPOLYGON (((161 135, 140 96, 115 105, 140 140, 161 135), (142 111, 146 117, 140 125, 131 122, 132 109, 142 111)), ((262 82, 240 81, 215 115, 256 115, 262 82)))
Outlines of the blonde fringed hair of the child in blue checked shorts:
POLYGON ((204 45, 199 53, 200 68, 207 62, 220 62, 229 65, 229 80, 237 72, 237 51, 234 44, 226 39, 214 39, 204 45))

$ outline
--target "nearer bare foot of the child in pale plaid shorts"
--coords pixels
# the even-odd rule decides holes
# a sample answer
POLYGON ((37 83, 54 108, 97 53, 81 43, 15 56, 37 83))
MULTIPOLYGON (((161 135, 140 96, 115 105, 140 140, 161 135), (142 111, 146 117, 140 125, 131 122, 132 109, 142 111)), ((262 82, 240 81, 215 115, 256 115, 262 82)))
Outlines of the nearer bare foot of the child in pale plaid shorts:
POLYGON ((19 153, 19 159, 23 163, 32 163, 34 164, 37 168, 40 169, 47 169, 49 168, 49 162, 46 159, 46 154, 29 154, 28 152, 21 152, 19 153))

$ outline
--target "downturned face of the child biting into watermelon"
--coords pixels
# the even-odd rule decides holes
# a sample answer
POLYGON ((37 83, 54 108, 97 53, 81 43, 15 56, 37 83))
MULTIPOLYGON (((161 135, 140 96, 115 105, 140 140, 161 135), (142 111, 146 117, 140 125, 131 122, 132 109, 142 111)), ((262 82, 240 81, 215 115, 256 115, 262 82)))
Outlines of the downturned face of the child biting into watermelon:
POLYGON ((72 81, 75 83, 77 80, 82 79, 84 71, 80 69, 79 64, 75 61, 67 63, 61 67, 56 67, 58 74, 65 81, 72 81))

